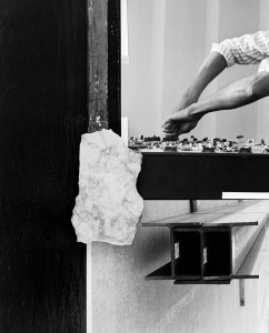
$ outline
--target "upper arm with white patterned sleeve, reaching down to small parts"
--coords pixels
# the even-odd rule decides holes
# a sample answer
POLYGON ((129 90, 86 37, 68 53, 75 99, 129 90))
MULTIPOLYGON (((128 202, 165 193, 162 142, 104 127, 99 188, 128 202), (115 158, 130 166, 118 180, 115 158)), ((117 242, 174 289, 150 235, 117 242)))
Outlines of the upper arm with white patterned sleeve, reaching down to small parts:
MULTIPOLYGON (((172 111, 172 114, 175 112, 177 113, 188 108, 192 103, 197 103, 203 89, 226 67, 231 67, 235 63, 239 63, 239 64, 259 63, 262 59, 266 59, 268 57, 269 57, 269 30, 258 31, 253 34, 243 34, 240 38, 227 39, 221 43, 215 43, 212 46, 211 53, 202 63, 195 81, 191 83, 187 92, 183 94, 180 103, 172 111)), ((231 90, 233 89, 233 84, 236 83, 231 84, 230 87, 231 90)), ((237 84, 235 85, 235 88, 236 87, 237 84)), ((231 100, 229 101, 229 103, 231 103, 231 100)), ((237 108, 237 107, 230 107, 230 108, 237 108)), ((202 111, 198 113, 202 114, 202 111)), ((163 132, 169 133, 169 135, 178 135, 177 133, 180 133, 180 130, 177 129, 177 122, 171 122, 170 119, 171 118, 168 117, 166 122, 163 123, 162 125, 163 132)), ((197 121, 195 121, 191 124, 191 127, 195 128, 196 124, 197 121)), ((188 132, 190 130, 188 130, 188 132)))

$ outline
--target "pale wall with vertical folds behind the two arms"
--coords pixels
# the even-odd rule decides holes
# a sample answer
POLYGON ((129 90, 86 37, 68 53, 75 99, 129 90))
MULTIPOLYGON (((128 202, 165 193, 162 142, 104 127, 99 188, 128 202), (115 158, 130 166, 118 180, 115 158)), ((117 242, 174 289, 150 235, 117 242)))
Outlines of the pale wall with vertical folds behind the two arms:
MULTIPOLYGON (((129 134, 162 135, 162 120, 192 81, 211 43, 268 29, 267 7, 266 0, 129 0, 130 62, 122 64, 122 115, 129 118, 129 134)), ((227 69, 201 99, 257 70, 258 65, 227 69)), ((269 140, 268 103, 207 115, 192 134, 269 140)))

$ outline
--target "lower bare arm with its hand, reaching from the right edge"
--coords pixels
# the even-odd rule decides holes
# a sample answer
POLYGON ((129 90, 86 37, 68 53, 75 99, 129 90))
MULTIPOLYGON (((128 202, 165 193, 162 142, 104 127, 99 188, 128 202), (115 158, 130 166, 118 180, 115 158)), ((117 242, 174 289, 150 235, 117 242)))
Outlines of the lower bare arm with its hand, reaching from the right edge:
POLYGON ((207 113, 236 109, 269 95, 269 72, 259 72, 235 81, 220 89, 205 101, 193 103, 189 108, 168 117, 167 121, 177 127, 177 132, 165 130, 169 134, 182 134, 191 131, 207 113))

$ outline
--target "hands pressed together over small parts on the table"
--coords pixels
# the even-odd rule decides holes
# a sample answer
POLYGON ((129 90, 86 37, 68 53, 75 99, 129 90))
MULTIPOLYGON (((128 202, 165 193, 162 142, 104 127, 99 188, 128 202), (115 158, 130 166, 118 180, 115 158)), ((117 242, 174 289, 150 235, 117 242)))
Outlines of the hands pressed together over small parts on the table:
POLYGON ((201 115, 193 113, 193 104, 182 111, 175 112, 166 119, 163 132, 170 137, 188 133, 197 127, 201 115))

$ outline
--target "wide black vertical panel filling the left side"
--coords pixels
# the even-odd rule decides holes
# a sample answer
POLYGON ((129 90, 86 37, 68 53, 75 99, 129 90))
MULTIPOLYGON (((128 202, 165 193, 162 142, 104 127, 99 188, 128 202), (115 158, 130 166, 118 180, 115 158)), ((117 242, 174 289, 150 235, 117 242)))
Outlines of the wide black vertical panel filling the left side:
POLYGON ((0 332, 86 332, 71 225, 87 131, 87 3, 0 0, 0 332))

